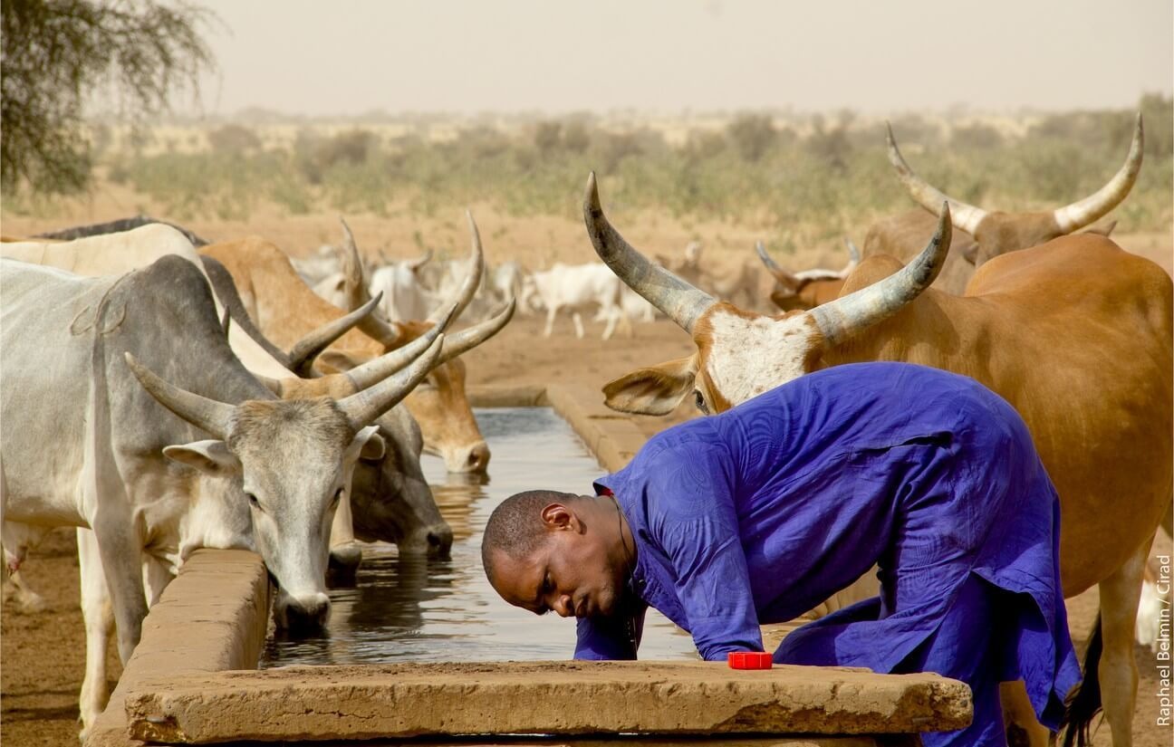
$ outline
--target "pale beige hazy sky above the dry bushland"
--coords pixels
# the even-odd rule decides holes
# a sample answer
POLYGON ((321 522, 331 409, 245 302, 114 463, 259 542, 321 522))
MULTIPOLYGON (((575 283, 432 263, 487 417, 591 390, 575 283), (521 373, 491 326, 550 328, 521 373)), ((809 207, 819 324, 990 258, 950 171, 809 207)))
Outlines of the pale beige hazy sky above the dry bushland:
POLYGON ((223 21, 209 114, 1057 109, 1174 88, 1170 0, 196 1, 223 21))

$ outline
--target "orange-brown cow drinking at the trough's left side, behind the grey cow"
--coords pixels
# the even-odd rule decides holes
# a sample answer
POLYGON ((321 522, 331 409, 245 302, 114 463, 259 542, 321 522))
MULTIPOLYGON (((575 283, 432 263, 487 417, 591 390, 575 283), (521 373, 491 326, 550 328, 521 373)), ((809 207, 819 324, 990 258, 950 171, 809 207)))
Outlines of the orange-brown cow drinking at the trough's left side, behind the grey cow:
MULTIPOLYGON (((480 280, 480 238, 470 218, 473 233, 474 271, 461 288, 463 303, 468 304, 480 280), (475 277, 474 277, 475 276, 475 277)), ((302 331, 345 312, 319 298, 298 277, 289 257, 272 243, 249 237, 211 244, 202 253, 220 260, 232 274, 249 315, 274 342, 285 346, 298 339, 302 331)), ((419 422, 424 449, 443 456, 450 471, 484 473, 490 449, 477 427, 473 410, 465 395, 465 365, 457 356, 495 334, 510 320, 513 304, 497 317, 470 330, 450 335, 441 360, 429 378, 405 400, 409 412, 419 422)), ((377 358, 419 337, 437 320, 386 322, 372 317, 357 330, 344 334, 321 358, 324 371, 344 371, 377 358)))

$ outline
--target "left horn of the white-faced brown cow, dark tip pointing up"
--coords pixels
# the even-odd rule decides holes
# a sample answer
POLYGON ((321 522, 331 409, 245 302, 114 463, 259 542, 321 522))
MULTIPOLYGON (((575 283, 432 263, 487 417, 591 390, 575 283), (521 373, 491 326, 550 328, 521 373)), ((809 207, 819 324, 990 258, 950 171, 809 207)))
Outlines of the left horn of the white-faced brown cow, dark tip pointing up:
POLYGON ((717 303, 709 293, 699 291, 664 267, 655 265, 623 240, 612 228, 599 204, 595 172, 587 177, 587 193, 583 196, 583 222, 587 235, 595 246, 595 253, 607 263, 621 280, 649 304, 664 312, 669 319, 686 332, 693 332, 697 317, 717 303))

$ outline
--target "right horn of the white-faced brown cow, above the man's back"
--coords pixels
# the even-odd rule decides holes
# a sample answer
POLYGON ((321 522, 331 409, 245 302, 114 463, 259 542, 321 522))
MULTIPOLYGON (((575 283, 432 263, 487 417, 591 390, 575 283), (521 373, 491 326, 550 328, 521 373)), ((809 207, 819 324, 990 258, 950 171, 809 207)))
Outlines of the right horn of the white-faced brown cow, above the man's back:
POLYGON ((938 230, 917 259, 884 280, 837 298, 807 312, 811 314, 828 345, 837 345, 857 331, 893 315, 917 298, 938 277, 950 251, 950 203, 942 203, 938 230))

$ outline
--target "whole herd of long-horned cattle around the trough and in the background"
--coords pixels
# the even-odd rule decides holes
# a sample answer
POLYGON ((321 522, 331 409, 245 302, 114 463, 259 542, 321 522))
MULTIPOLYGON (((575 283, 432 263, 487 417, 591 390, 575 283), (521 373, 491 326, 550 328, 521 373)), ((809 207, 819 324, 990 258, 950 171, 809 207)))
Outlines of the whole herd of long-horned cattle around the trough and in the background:
MULTIPOLYGON (((77 528, 83 734, 108 697, 112 634, 126 661, 149 605, 196 548, 259 552, 278 586, 275 619, 291 629, 325 620, 328 572, 353 573, 356 541, 446 555, 452 531, 420 453, 451 471, 486 470, 460 356, 517 307, 545 312, 547 335, 560 311, 579 337, 588 311, 605 339, 654 314, 688 332, 694 355, 603 387, 626 413, 663 415, 687 398, 717 413, 869 360, 953 371, 999 393, 1060 495, 1065 595, 1100 591, 1099 645, 1075 702, 1104 699, 1114 745, 1129 745, 1135 619, 1174 484, 1174 293, 1162 269, 1094 224, 1136 179, 1141 118, 1102 189, 1046 212, 945 196, 910 169, 891 131, 889 156, 924 210, 875 224, 842 270, 791 273, 760 245, 776 314, 749 308, 750 264, 717 274, 696 244, 655 262, 630 246, 605 217, 594 174, 583 217, 602 264, 534 273, 511 262, 487 271, 472 217, 467 259, 384 259, 373 271, 345 224, 337 251, 304 262, 262 238, 208 244, 158 223, 66 242, 6 238, 5 559, 19 584, 45 531, 77 528), (463 315, 478 321, 454 331, 463 315)), ((1145 593, 1153 605, 1153 588, 1145 593)), ((1152 639, 1148 622, 1136 630, 1152 639)), ((1004 695, 1031 743, 1047 743, 1023 688, 1004 695)), ((1078 726, 1092 715, 1073 711, 1078 726)))

